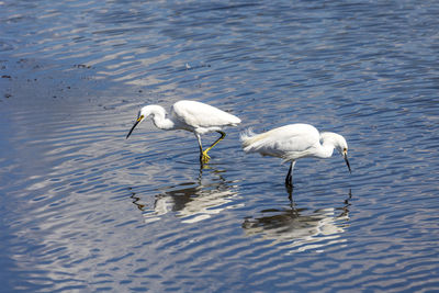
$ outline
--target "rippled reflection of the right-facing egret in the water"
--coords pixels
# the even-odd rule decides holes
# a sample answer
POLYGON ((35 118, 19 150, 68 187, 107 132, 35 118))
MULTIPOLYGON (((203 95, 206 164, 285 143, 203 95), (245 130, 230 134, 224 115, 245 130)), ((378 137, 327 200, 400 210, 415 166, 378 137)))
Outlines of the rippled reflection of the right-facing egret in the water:
MULTIPOLYGON (((291 193, 290 193, 291 196, 291 193)), ((320 251, 329 245, 342 245, 341 234, 349 226, 351 191, 340 207, 325 207, 313 212, 297 209, 291 198, 285 210, 264 210, 261 217, 248 217, 243 223, 247 236, 261 235, 271 245, 286 247, 290 252, 314 249, 320 251)))

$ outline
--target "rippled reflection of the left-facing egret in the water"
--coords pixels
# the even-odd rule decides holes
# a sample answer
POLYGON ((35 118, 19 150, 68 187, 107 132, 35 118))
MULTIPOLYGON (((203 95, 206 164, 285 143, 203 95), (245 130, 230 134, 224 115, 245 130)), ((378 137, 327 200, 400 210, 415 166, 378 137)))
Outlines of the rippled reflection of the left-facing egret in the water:
POLYGON ((175 213, 183 223, 195 223, 210 218, 226 209, 234 209, 237 185, 226 181, 225 171, 203 166, 196 182, 184 182, 161 189, 155 196, 153 209, 142 203, 140 198, 132 193, 133 203, 143 212, 146 223, 159 221, 168 213, 175 213), (213 180, 202 180, 203 172, 215 176, 213 180))

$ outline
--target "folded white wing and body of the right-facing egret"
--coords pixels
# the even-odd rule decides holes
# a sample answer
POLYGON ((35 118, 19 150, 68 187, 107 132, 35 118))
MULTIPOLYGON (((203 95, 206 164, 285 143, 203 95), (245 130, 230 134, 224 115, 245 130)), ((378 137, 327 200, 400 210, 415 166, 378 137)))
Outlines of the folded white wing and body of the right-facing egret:
POLYGON ((246 137, 244 150, 266 156, 289 158, 318 144, 318 131, 308 124, 291 124, 246 137))

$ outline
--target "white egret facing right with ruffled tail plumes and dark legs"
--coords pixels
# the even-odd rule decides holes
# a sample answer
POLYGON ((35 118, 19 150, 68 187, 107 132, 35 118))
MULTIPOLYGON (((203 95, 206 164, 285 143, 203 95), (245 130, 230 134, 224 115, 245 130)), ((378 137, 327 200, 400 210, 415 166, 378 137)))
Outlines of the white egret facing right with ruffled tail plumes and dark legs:
POLYGON ((262 156, 282 158, 291 161, 285 184, 293 185, 293 169, 300 158, 329 158, 336 148, 344 156, 349 172, 348 144, 345 137, 330 132, 319 133, 309 124, 290 124, 261 134, 251 131, 241 134, 246 153, 259 153, 262 156))

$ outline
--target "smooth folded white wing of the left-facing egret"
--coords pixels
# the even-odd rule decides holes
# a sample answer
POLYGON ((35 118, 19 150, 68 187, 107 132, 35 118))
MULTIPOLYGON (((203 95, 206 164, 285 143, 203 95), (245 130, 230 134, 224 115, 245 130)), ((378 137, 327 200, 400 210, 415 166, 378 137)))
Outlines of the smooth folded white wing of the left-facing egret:
POLYGON ((179 101, 173 104, 172 112, 181 122, 195 128, 240 123, 237 116, 196 101, 179 101))

